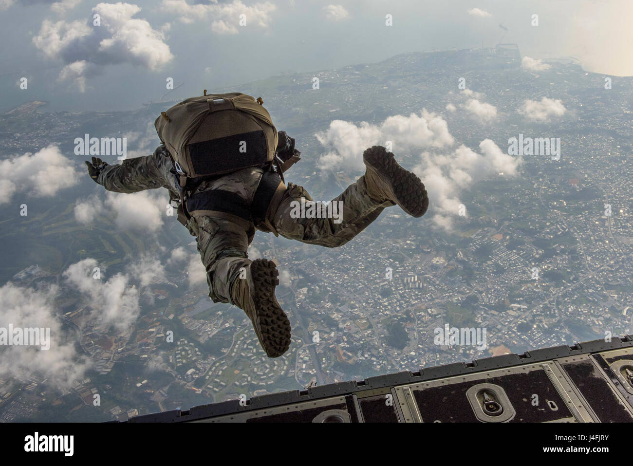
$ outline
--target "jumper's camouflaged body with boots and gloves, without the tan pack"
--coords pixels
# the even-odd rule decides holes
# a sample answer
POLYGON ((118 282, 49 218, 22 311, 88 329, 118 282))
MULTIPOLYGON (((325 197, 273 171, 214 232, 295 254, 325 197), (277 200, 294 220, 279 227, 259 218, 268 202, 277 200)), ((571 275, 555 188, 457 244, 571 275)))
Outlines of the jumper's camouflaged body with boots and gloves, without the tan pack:
MULTIPOLYGON (((294 218, 294 203, 303 199, 306 210, 311 204, 320 203, 314 203, 303 187, 285 184, 279 160, 300 153, 294 138, 284 131, 275 130, 275 136, 278 143, 274 162, 198 179, 189 194, 192 199, 203 199, 204 206, 190 209, 191 216, 182 222, 196 236, 210 298, 244 310, 270 358, 287 351, 291 327, 275 297, 275 286, 279 284, 275 263, 265 258, 248 258, 247 249, 256 230, 335 248, 358 235, 389 206, 398 205, 412 217, 422 217, 429 206, 420 179, 401 167, 394 154, 382 146, 373 146, 363 153, 365 174, 331 201, 342 201, 342 222, 332 218, 294 218), (272 189, 262 189, 262 180, 272 189)), ((85 163, 90 177, 108 191, 132 193, 165 187, 170 199, 182 198, 182 168, 174 163, 165 144, 151 155, 123 160, 120 165, 109 165, 96 157, 85 163)))

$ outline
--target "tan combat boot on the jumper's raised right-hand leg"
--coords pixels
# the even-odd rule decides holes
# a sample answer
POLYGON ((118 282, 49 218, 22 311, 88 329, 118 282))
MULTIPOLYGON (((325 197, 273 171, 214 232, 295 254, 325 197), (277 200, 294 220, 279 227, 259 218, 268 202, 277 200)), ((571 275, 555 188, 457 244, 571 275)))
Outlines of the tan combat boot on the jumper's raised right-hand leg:
POLYGON ((413 217, 422 217, 429 208, 429 197, 415 173, 404 170, 394 154, 382 146, 363 153, 367 172, 363 175, 367 194, 379 203, 391 202, 413 217))

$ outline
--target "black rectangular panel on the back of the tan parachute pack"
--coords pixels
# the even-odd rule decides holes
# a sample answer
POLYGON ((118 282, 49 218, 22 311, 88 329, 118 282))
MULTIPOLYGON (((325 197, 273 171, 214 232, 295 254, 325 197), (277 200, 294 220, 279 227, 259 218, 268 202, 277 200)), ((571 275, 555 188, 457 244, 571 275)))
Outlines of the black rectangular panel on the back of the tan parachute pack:
POLYGON ((265 163, 268 158, 266 135, 262 130, 194 142, 188 148, 196 175, 212 175, 252 167, 265 163), (246 152, 240 152, 245 143, 246 152))

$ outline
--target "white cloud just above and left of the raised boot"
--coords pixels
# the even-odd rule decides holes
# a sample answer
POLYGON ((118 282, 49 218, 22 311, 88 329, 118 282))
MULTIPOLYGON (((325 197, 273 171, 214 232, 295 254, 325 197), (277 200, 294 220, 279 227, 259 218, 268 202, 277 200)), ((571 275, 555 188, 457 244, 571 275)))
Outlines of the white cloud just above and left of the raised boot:
POLYGON ((385 141, 392 141, 394 148, 441 148, 454 144, 446 120, 426 109, 420 115, 389 116, 380 125, 361 122, 360 126, 356 126, 354 123, 334 120, 330 122, 329 129, 315 136, 329 149, 318 159, 318 167, 322 170, 364 170, 363 151, 376 144, 384 146, 385 141))

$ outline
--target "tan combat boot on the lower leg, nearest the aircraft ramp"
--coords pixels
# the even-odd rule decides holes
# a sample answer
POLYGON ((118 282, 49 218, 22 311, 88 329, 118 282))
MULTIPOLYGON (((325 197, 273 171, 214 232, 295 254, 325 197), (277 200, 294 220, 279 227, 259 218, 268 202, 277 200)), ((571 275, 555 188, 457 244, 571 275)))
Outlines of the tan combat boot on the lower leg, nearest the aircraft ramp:
POLYGON ((256 259, 246 268, 246 277, 235 278, 232 303, 251 319, 261 348, 269 358, 277 358, 290 348, 290 321, 275 298, 279 271, 275 263, 256 259))

